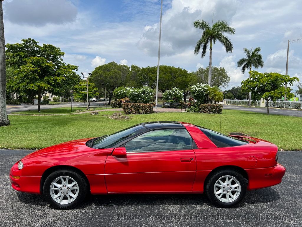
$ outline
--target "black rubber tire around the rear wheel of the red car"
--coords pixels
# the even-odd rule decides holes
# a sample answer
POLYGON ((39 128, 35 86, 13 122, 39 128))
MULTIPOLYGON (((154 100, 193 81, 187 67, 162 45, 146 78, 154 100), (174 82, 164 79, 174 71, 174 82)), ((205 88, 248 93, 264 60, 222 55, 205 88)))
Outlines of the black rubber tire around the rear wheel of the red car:
MULTIPOLYGON (((245 179, 242 176, 242 174, 240 174, 239 172, 237 172, 233 169, 225 169, 225 170, 220 170, 220 171, 212 173, 209 180, 207 181, 207 184, 206 184, 206 187, 205 187, 205 192, 207 194, 207 197, 210 199, 210 201, 215 206, 223 207, 223 208, 229 208, 229 207, 236 206, 239 202, 242 201, 243 197, 246 194, 246 187, 247 187, 247 179, 245 179), (239 181, 240 193, 236 197, 236 199, 232 202, 220 201, 215 195, 214 185, 215 185, 216 181, 218 179, 220 179, 220 177, 223 177, 223 176, 232 176, 232 177, 235 177, 239 181)), ((216 189, 216 190, 219 190, 219 188, 216 189)), ((230 192, 230 193, 232 193, 232 192, 230 192)), ((233 193, 236 193, 236 192, 233 192, 233 193)), ((222 197, 222 199, 223 199, 223 197, 222 197)))

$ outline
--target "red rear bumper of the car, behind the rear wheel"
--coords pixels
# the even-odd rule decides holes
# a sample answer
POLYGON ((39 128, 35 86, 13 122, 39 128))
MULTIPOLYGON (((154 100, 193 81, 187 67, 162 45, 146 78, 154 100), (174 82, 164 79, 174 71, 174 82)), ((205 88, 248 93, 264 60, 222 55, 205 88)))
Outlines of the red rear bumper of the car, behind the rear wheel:
POLYGON ((246 169, 249 176, 249 185, 247 189, 255 190, 279 184, 282 181, 285 171, 285 167, 279 163, 270 168, 246 169))

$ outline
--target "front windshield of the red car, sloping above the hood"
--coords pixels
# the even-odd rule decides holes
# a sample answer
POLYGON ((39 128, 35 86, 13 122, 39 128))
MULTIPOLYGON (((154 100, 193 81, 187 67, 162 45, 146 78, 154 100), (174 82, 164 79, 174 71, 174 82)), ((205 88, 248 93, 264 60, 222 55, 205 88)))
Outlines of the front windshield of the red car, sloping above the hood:
POLYGON ((146 128, 142 125, 135 125, 126 129, 123 129, 119 132, 113 133, 109 136, 100 137, 93 141, 91 146, 95 149, 104 149, 104 148, 112 148, 117 143, 130 138, 132 136, 135 136, 137 134, 140 134, 142 132, 145 132, 146 128))

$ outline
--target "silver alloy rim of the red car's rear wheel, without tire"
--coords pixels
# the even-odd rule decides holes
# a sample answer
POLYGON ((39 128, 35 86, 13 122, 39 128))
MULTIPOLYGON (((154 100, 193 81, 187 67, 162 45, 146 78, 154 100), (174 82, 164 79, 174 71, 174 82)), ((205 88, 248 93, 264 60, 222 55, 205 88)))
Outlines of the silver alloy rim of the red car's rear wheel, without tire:
POLYGON ((235 201, 241 192, 239 180, 234 176, 220 177, 214 184, 214 194, 221 202, 235 201))

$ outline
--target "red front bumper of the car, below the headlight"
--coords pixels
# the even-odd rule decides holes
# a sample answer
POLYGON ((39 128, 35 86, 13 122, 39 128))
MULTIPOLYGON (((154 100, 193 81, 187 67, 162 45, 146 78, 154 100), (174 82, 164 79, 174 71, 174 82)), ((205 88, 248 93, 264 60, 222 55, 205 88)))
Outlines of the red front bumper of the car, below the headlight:
POLYGON ((20 174, 12 169, 9 173, 9 180, 13 189, 19 192, 40 194, 40 176, 20 176, 19 179, 15 179, 13 176, 20 176, 20 174))

